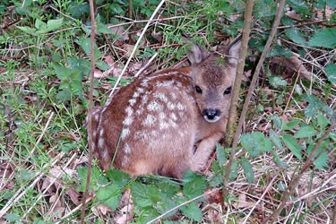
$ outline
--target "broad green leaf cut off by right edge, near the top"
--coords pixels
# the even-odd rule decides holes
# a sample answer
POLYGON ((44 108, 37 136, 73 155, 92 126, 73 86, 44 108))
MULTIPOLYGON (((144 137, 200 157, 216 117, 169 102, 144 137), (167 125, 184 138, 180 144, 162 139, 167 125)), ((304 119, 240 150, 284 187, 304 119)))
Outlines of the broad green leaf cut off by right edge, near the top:
POLYGON ((317 31, 309 40, 311 47, 325 47, 333 49, 336 47, 336 28, 325 28, 317 31))

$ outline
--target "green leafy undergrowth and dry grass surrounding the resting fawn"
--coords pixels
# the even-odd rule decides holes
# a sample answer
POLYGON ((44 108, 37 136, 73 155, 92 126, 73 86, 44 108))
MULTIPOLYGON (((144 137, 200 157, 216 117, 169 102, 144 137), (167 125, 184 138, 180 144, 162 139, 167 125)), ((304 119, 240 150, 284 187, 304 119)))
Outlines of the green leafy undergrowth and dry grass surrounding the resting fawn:
MULTIPOLYGON (((95 104, 103 105, 159 1, 96 4, 93 94, 95 104)), ((183 180, 104 173, 95 160, 87 222, 262 223, 307 160, 314 164, 302 174, 278 222, 335 221, 336 133, 328 129, 336 122, 336 4, 287 4, 250 102, 228 185, 222 183, 230 149, 220 145, 204 174, 187 172, 183 180), (222 194, 223 187, 228 194, 222 194)), ((163 5, 121 85, 142 68, 141 75, 148 75, 187 65, 183 34, 211 48, 228 44, 243 29, 245 1, 163 5)), ((241 102, 275 9, 274 1, 255 1, 241 102)), ((89 12, 82 0, 0 3, 0 222, 80 219, 88 155, 89 12)))

